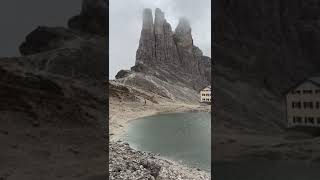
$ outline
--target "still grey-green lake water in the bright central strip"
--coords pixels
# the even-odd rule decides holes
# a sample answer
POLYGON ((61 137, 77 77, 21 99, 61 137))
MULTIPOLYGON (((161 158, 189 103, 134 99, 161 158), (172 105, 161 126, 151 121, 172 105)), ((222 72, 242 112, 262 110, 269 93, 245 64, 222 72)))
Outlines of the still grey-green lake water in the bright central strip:
POLYGON ((134 149, 210 171, 211 114, 159 114, 130 122, 125 140, 134 149))

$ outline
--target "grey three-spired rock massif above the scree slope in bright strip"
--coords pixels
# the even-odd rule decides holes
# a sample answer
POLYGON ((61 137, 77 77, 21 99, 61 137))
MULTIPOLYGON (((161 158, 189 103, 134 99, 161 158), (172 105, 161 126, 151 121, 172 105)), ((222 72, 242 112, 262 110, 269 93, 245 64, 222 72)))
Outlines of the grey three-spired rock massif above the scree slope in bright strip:
MULTIPOLYGON (((211 67, 210 58, 203 56, 202 51, 193 44, 188 20, 181 18, 173 33, 171 25, 159 8, 155 10, 154 23, 152 11, 144 10, 143 27, 136 56, 136 66, 139 64, 150 71, 165 70, 168 72, 167 76, 175 76, 175 81, 186 83, 196 90, 208 85, 211 81, 211 75, 203 69, 203 64, 211 67), (183 76, 187 76, 188 79, 183 76), (195 79, 197 81, 194 81, 195 79)), ((161 78, 161 75, 158 76, 161 78)), ((162 79, 173 79, 165 76, 162 79)))

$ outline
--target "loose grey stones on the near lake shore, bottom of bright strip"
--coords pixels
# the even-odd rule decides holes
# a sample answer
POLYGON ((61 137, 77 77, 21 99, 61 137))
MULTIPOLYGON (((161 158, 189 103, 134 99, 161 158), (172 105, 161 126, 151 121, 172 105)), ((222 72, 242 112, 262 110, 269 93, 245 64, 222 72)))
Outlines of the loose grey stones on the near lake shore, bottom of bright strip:
POLYGON ((110 180, 205 180, 209 173, 162 159, 155 154, 136 151, 121 141, 109 144, 110 180))

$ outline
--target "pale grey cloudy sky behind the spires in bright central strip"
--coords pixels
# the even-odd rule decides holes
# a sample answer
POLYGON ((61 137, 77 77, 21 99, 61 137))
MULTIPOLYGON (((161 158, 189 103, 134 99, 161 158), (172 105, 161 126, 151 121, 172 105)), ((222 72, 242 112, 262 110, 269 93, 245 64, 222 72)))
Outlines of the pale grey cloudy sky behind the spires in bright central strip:
POLYGON ((109 78, 135 63, 144 8, 160 8, 174 30, 180 17, 187 17, 193 41, 211 56, 211 0, 110 0, 109 1, 109 78))

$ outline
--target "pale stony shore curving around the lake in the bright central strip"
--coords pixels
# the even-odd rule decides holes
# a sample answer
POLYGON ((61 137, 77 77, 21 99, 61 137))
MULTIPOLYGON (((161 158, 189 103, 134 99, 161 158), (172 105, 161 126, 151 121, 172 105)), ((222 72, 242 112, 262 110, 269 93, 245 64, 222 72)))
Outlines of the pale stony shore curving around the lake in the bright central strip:
POLYGON ((123 143, 131 120, 157 113, 202 111, 211 106, 163 101, 156 94, 129 86, 109 86, 109 178, 110 179, 210 179, 208 172, 165 160, 152 153, 140 152, 123 143), (127 88, 127 89, 126 89, 127 88), (122 97, 119 99, 119 97, 122 97), (153 101, 144 100, 153 97, 153 101))

